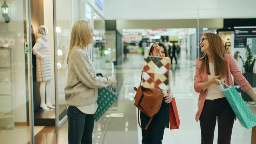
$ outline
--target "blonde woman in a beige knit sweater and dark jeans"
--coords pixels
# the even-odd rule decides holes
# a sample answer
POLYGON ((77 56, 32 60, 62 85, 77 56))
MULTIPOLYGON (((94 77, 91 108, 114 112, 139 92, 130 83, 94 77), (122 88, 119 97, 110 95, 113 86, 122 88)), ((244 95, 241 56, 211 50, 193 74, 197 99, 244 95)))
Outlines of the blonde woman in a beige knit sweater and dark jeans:
POLYGON ((89 22, 75 22, 68 52, 68 83, 64 89, 68 105, 68 143, 92 144, 94 113, 98 104, 98 88, 116 83, 114 76, 98 77, 87 54, 87 46, 93 41, 93 29, 89 22))

